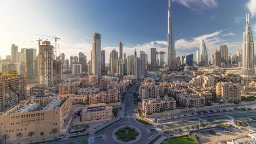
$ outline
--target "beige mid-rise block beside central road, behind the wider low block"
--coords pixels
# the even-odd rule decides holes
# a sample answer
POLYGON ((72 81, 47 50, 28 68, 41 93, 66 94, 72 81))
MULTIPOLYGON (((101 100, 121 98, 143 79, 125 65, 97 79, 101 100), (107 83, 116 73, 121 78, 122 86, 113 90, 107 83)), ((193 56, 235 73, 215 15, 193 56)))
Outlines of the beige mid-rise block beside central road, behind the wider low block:
POLYGON ((148 98, 157 98, 160 96, 160 86, 153 83, 143 83, 139 88, 141 101, 148 98))

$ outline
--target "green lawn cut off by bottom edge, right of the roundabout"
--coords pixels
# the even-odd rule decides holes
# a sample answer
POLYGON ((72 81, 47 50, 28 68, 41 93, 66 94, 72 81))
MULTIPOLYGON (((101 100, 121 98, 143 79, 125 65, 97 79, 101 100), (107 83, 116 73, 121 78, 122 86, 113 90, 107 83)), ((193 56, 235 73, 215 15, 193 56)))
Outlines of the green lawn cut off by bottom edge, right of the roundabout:
MULTIPOLYGON (((166 141, 167 144, 198 144, 197 141, 194 141, 194 139, 188 135, 165 139, 164 141, 166 141)), ((164 144, 164 141, 162 141, 161 144, 164 144)))

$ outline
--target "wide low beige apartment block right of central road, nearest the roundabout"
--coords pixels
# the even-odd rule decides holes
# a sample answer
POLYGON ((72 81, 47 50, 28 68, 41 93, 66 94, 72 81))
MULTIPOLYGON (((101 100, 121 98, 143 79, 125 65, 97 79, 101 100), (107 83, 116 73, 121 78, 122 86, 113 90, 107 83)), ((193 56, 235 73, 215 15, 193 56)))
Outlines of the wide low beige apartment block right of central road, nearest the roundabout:
POLYGON ((145 114, 171 111, 176 109, 176 101, 172 97, 164 95, 164 98, 149 98, 142 101, 142 110, 145 114))

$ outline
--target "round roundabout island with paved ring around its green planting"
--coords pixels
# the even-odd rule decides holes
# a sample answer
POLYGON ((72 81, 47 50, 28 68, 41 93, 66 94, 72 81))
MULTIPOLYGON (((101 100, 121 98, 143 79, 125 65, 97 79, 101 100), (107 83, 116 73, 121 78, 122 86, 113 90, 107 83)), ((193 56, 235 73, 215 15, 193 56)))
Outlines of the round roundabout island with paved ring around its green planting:
POLYGON ((121 126, 114 130, 112 137, 118 144, 131 144, 141 138, 141 131, 130 125, 121 126))

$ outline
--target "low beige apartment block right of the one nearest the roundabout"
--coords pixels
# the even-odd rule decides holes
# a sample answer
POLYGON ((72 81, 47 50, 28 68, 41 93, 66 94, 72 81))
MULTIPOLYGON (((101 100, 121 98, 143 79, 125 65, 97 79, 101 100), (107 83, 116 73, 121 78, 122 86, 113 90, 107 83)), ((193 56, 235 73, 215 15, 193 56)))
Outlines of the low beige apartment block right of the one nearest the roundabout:
POLYGON ((205 104, 205 98, 196 94, 184 93, 177 95, 177 101, 185 107, 202 107, 205 104))

